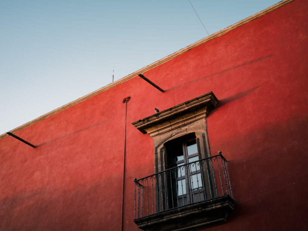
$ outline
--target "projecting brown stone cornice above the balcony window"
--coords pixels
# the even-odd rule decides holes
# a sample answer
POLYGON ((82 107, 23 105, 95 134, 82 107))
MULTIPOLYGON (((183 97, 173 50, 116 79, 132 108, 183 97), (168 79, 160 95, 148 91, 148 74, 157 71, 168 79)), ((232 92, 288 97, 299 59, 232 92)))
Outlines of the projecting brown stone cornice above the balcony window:
POLYGON ((216 106, 217 102, 218 99, 210 91, 132 124, 143 134, 148 133, 151 137, 157 136, 205 118, 209 110, 216 106))

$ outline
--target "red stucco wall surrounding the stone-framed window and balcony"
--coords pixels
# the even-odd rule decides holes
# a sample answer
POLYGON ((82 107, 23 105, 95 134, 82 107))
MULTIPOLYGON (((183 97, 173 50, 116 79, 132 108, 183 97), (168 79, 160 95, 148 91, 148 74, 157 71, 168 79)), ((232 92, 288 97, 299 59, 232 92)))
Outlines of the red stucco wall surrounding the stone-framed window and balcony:
POLYGON ((307 1, 295 0, 0 140, 0 230, 124 230, 153 140, 131 123, 213 91, 211 153, 228 160, 235 210, 206 230, 308 229, 307 1))

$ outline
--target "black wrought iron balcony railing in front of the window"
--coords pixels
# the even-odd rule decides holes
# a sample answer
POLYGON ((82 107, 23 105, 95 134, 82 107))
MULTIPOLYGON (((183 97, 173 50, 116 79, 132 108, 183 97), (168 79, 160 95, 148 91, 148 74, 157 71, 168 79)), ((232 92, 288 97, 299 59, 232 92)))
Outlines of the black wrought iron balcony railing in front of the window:
POLYGON ((229 195, 227 160, 221 155, 181 164, 135 181, 135 219, 229 195))

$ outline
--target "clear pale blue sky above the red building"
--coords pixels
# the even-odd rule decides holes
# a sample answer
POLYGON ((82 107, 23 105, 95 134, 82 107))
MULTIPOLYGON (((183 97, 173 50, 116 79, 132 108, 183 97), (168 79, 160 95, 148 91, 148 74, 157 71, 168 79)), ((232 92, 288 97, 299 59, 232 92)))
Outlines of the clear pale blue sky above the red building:
MULTIPOLYGON (((190 0, 213 34, 278 0, 190 0)), ((0 1, 0 134, 208 34, 188 0, 0 1)))

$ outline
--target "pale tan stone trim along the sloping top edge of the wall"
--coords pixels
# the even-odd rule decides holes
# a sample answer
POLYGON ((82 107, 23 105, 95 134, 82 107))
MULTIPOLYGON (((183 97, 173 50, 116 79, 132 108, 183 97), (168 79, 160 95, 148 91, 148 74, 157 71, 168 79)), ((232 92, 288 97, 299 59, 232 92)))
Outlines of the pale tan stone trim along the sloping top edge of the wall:
MULTIPOLYGON (((241 20, 241 21, 239 21, 239 22, 237 22, 237 23, 235 23, 235 24, 233 24, 231 26, 228 26, 225 29, 219 30, 219 31, 217 31, 214 34, 211 34, 208 37, 205 37, 204 39, 201 39, 201 40, 197 41, 196 43, 193 43, 193 44, 191 44, 191 45, 189 45, 187 47, 184 47, 183 49, 181 49, 179 51, 176 51, 176 52, 174 52, 171 55, 168 55, 168 56, 166 56, 166 57, 164 57, 164 58, 162 58, 162 59, 160 59, 160 60, 158 60, 158 61, 156 61, 156 62, 154 62, 154 63, 152 63, 152 64, 150 64, 148 66, 146 66, 146 67, 141 68, 138 71, 133 72, 132 74, 129 74, 129 75, 127 75, 127 76, 125 76, 125 77, 123 77, 123 78, 121 78, 121 79, 119 79, 119 80, 117 80, 117 81, 115 81, 113 83, 110 83, 110 84, 108 84, 108 85, 106 85, 104 87, 101 87, 101 88, 97 89, 96 91, 93 91, 93 92, 91 92, 91 93, 89 93, 89 94, 87 94, 87 95, 85 95, 85 96, 83 96, 83 97, 81 97, 79 99, 76 99, 76 100, 72 101, 71 103, 67 103, 67 104, 63 105, 62 107, 58 107, 57 109, 55 109, 53 111, 50 111, 50 112, 48 112, 48 113, 46 113, 46 114, 44 114, 44 115, 42 115, 42 116, 40 116, 40 117, 38 117, 38 118, 36 118, 34 120, 31 120, 30 122, 28 122, 26 124, 23 124, 23 125, 21 125, 21 126, 19 126, 17 128, 14 128, 13 130, 10 130, 9 132, 12 132, 12 133, 17 132, 17 131, 19 131, 19 130, 21 130, 23 128, 26 128, 26 127, 30 126, 31 124, 35 124, 36 122, 39 122, 39 121, 41 121, 41 120, 43 120, 43 119, 45 119, 45 118, 47 118, 47 117, 49 117, 51 115, 55 115, 56 113, 58 113, 60 111, 63 111, 63 110, 65 110, 68 107, 71 107, 71 106, 73 106, 73 105, 75 105, 77 103, 80 103, 80 102, 82 102, 82 101, 84 101, 86 99, 91 98, 94 95, 97 95, 97 94, 99 94, 99 93, 101 93, 103 91, 106 91, 106 90, 108 90, 111 87, 114 87, 114 86, 116 86, 116 85, 118 85, 120 83, 123 83, 123 82, 125 82, 125 81, 127 81, 129 79, 132 79, 132 78, 134 78, 135 76, 137 76, 137 75, 139 75, 141 73, 144 73, 144 72, 146 72, 146 71, 148 71, 148 70, 150 70, 150 69, 152 69, 154 67, 157 67, 160 64, 165 63, 165 62, 175 58, 176 56, 181 55, 184 52, 189 51, 190 49, 193 49, 194 47, 197 47, 197 46, 201 45, 202 43, 205 43, 205 42, 207 42, 209 40, 212 40, 212 39, 214 39, 214 38, 216 38, 218 36, 221 36, 221 35, 227 33, 228 31, 237 28, 238 26, 241 26, 241 25, 243 25, 243 24, 245 24, 247 22, 250 22, 251 20, 253 20, 255 18, 258 18, 258 17, 260 17, 260 16, 262 16, 264 14, 267 14, 268 12, 273 11, 273 10, 275 10, 275 9, 281 7, 281 6, 284 6, 287 3, 292 2, 292 1, 294 1, 294 0, 283 0, 281 2, 278 2, 275 5, 266 8, 265 10, 261 10, 260 12, 258 12, 256 14, 253 14, 253 15, 249 16, 248 18, 245 18, 245 19, 243 19, 243 20, 241 20)), ((6 134, 6 133, 0 135, 0 139, 4 138, 6 136, 8 136, 8 134, 6 134)))

